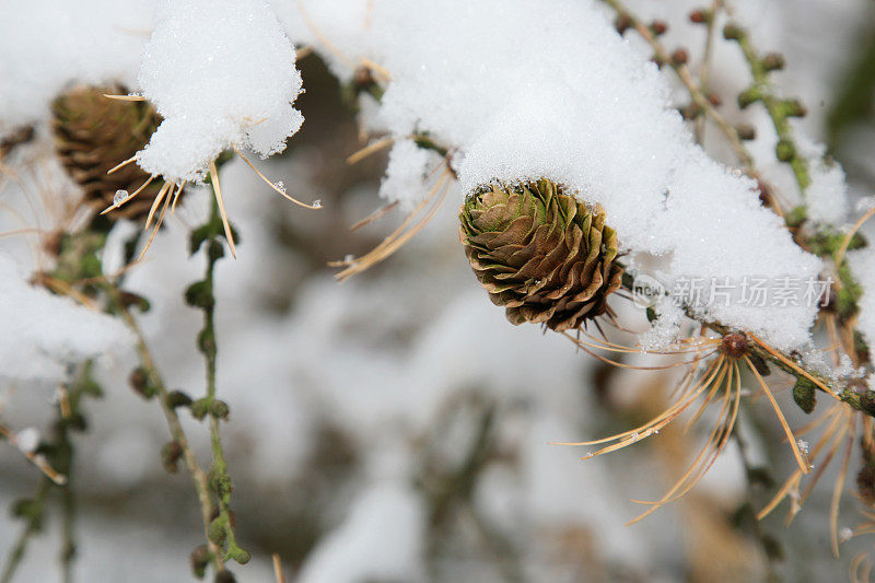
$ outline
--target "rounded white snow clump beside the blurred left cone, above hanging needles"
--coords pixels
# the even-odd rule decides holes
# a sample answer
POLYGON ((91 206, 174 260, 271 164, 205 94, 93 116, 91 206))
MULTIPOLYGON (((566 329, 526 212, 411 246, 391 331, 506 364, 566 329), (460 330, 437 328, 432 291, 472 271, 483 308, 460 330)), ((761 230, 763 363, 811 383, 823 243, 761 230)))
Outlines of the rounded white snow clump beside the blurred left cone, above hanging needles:
POLYGON ((139 81, 164 121, 138 163, 177 183, 232 145, 281 152, 304 119, 294 47, 262 0, 165 2, 139 81))

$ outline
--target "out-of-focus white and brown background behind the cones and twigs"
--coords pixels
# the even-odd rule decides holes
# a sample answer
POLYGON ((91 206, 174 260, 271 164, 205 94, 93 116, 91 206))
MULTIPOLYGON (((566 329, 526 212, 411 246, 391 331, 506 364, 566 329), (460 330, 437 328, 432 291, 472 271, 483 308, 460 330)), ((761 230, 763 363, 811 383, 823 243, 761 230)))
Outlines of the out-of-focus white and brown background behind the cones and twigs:
MULTIPOLYGON (((670 24, 667 46, 701 46, 700 28, 687 19, 695 3, 632 4, 670 24)), ((805 131, 829 144, 859 196, 871 195, 873 2, 738 4, 737 16, 757 28, 760 45, 785 55, 778 80, 808 106, 805 131)), ((725 97, 731 119, 766 127, 767 118, 734 105, 747 83, 738 58, 733 47, 716 45, 714 92, 725 97)), ((842 545, 839 558, 831 553, 835 467, 789 527, 785 508, 761 523, 752 520, 751 510, 793 470, 780 427, 758 400, 744 406, 745 452, 733 443, 691 493, 623 526, 640 512, 630 500, 662 495, 710 425, 684 433, 678 424, 585 462, 586 450, 551 442, 640 424, 664 409, 680 371, 612 368, 560 335, 511 326, 465 260, 456 234, 459 193, 388 260, 337 282, 326 264, 368 252, 402 214, 350 231, 381 207, 376 191, 386 158, 347 163, 363 145, 357 106, 317 55, 300 68, 306 93, 298 106, 306 121, 284 154, 258 166, 290 194, 320 198, 324 210, 289 205, 240 160, 222 167, 241 236, 236 260, 225 258, 217 268, 218 393, 231 407, 223 441, 237 538, 253 553, 247 565, 233 569, 237 580, 273 580, 270 557, 278 553, 285 576, 305 583, 839 581, 858 552, 872 550, 871 538, 862 537, 842 545)), ((52 140, 50 131, 37 130, 4 152, 2 163, 16 179, 4 179, 0 191, 4 209, 34 217, 47 231, 81 196, 52 140), (35 208, 37 199, 43 202, 35 208)), ((705 147, 728 156, 708 136, 705 147)), ((773 159, 765 139, 751 149, 773 159)), ((774 166, 780 186, 786 177, 774 166)), ((199 394, 201 314, 186 305, 183 292, 202 273, 202 255, 188 256, 188 232, 212 195, 206 188, 186 193, 126 289, 151 303, 139 319, 168 387, 199 394)), ((11 215, 0 221, 4 230, 13 230, 11 215)), ((116 249, 117 256, 126 233, 138 228, 117 224, 107 255, 116 249)), ((34 269, 40 259, 33 249, 45 243, 3 237, 0 249, 34 269)), ((615 307, 639 331, 646 329, 640 311, 615 307)), ((203 540, 190 480, 162 467, 159 451, 170 438, 161 410, 129 387, 135 365, 131 350, 102 359, 96 378, 104 396, 84 405, 88 430, 74 440, 79 581, 189 581, 188 556, 203 540)), ((47 427, 56 388, 10 382, 0 387, 0 417, 20 429, 47 427)), ((780 399, 790 403, 786 390, 780 399)), ((806 421, 797 408, 784 409, 791 425, 806 421)), ((206 425, 182 417, 196 451, 208 458, 206 425)), ((0 446, 1 505, 32 497, 39 481, 16 450, 0 446)), ((63 501, 51 498, 45 530, 27 546, 16 581, 59 580, 58 557, 69 536, 62 515, 63 501)), ((849 487, 839 525, 858 522, 849 487)), ((0 516, 4 555, 22 528, 9 513, 0 516)))

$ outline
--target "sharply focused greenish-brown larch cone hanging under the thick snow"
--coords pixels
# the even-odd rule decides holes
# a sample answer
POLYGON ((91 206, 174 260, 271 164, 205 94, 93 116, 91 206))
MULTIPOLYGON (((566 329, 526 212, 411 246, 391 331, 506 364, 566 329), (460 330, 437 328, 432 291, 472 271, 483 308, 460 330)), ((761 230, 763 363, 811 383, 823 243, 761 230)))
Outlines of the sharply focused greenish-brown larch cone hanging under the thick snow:
POLYGON ((487 186, 459 211, 459 238, 474 272, 508 319, 575 329, 607 312, 622 280, 617 233, 547 179, 487 186))

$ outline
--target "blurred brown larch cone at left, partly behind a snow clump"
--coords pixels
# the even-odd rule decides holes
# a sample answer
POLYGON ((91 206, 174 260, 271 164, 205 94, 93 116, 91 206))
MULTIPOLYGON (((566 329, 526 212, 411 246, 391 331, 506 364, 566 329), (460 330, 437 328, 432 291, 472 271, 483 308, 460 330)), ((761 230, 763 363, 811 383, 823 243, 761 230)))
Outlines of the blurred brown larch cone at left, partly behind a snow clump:
MULTIPOLYGON (((82 187, 83 202, 97 210, 113 205, 116 190, 133 193, 149 178, 133 162, 113 174, 106 172, 141 150, 161 121, 149 103, 110 100, 104 93, 124 91, 79 86, 52 104, 58 156, 73 182, 82 187)), ((137 198, 107 217, 144 218, 160 189, 161 183, 153 180, 137 198)))

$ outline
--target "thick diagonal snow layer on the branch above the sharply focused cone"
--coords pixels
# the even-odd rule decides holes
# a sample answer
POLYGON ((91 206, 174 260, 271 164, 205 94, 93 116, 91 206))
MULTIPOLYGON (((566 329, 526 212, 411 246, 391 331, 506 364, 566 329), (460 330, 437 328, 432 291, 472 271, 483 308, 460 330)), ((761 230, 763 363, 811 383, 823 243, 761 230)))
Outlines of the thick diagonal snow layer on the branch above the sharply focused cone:
MULTIPOLYGON (((600 3, 375 0, 355 35, 348 21, 360 4, 302 0, 283 20, 335 68, 362 58, 385 68, 382 121, 396 139, 427 133, 457 149, 463 191, 497 179, 563 184, 605 208, 621 246, 670 257, 670 278, 817 278, 820 261, 761 206, 756 183, 693 142, 650 55, 600 3), (347 24, 337 36, 335 18, 347 24)), ((389 184, 402 172, 388 171, 389 184)), ((750 307, 739 294, 702 315, 782 349, 809 339, 816 303, 750 307)))

